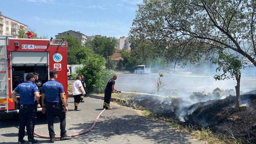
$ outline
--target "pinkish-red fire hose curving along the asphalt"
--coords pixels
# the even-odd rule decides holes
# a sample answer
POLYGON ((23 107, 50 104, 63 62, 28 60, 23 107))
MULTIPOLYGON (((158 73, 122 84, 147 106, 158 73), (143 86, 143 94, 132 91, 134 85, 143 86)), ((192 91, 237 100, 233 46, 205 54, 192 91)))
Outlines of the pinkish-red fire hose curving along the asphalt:
MULTIPOLYGON (((82 134, 84 134, 84 133, 87 133, 87 132, 91 131, 91 130, 95 127, 95 125, 96 125, 98 119, 100 118, 101 114, 102 114, 104 111, 105 111, 105 109, 103 109, 103 110, 100 112, 100 114, 98 115, 98 117, 97 117, 96 120, 94 121, 92 127, 90 127, 89 129, 86 129, 85 131, 78 132, 78 133, 74 133, 74 134, 71 134, 71 135, 69 135, 69 136, 71 136, 71 137, 79 136, 79 135, 82 135, 82 134)), ((35 134, 36 136, 41 137, 41 138, 44 138, 44 139, 50 139, 50 136, 41 135, 41 134, 37 133, 36 131, 34 131, 34 134, 35 134)), ((55 139, 60 139, 60 138, 61 138, 61 136, 55 136, 55 139)))

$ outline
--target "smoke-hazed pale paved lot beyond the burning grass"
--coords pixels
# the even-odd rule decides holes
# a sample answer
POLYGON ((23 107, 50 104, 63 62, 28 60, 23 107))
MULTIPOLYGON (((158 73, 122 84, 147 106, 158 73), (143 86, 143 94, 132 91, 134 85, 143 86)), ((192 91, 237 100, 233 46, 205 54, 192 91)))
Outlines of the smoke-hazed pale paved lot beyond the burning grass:
MULTIPOLYGON (((156 79, 158 74, 117 74, 115 88, 125 92, 156 93, 156 79)), ((213 92, 216 87, 220 89, 234 89, 236 81, 233 79, 216 81, 213 76, 190 74, 164 74, 163 81, 166 84, 161 95, 169 96, 171 92, 179 96, 190 96, 193 92, 206 90, 213 92)), ((256 77, 242 77, 241 91, 249 92, 256 89, 256 77)))

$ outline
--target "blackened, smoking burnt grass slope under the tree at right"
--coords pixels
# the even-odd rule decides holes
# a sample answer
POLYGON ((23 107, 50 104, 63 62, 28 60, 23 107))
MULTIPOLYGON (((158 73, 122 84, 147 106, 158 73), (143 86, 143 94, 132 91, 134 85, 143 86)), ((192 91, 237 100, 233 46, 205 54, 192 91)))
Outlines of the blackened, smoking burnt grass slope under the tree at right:
POLYGON ((223 100, 209 100, 189 106, 182 99, 159 100, 158 97, 134 98, 127 106, 147 109, 158 117, 172 118, 179 124, 209 127, 221 136, 256 143, 256 90, 241 95, 240 104, 247 104, 247 111, 234 111, 235 96, 223 100), (183 117, 185 121, 181 121, 183 117))

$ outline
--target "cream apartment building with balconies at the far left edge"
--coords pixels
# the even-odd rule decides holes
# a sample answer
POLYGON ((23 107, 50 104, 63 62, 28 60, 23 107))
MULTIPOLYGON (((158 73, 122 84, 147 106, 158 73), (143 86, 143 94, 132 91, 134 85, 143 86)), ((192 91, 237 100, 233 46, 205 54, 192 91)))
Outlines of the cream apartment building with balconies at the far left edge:
POLYGON ((13 38, 18 38, 20 28, 23 28, 26 31, 28 30, 26 24, 4 16, 3 12, 0 12, 0 35, 12 35, 13 38))

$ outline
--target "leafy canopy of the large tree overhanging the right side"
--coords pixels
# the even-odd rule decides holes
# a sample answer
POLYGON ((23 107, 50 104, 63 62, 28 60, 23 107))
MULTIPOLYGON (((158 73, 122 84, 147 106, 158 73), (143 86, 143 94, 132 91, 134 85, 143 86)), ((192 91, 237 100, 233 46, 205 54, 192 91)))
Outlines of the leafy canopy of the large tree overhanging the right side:
POLYGON ((255 0, 143 2, 133 21, 131 38, 165 44, 175 64, 208 60, 218 57, 218 51, 230 51, 244 59, 243 64, 256 66, 255 0))

